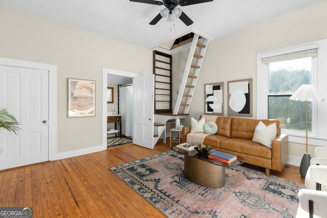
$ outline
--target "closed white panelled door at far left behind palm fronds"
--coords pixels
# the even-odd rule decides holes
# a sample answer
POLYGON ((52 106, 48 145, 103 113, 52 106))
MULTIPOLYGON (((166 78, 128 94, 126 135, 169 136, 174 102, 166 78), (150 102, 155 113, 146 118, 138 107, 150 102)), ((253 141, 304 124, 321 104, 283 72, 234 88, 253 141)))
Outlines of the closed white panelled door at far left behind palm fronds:
POLYGON ((17 135, 2 130, 0 170, 49 160, 49 71, 0 65, 0 108, 16 117, 17 135))

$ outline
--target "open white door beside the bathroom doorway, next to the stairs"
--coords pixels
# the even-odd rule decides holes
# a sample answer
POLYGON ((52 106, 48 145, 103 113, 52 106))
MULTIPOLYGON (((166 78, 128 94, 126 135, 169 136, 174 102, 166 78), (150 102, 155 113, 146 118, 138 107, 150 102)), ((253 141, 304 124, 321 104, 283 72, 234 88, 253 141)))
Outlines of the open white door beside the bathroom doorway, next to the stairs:
POLYGON ((135 77, 133 143, 153 149, 154 75, 135 77))

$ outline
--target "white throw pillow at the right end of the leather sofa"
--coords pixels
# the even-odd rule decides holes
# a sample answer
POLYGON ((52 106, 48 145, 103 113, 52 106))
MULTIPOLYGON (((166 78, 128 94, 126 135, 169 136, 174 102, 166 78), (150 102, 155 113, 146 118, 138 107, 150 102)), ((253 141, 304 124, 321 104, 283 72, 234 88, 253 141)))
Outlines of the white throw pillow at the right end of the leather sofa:
POLYGON ((256 125, 255 127, 252 141, 261 143, 264 146, 272 148, 271 141, 276 137, 276 134, 277 134, 276 124, 272 124, 266 127, 266 125, 262 123, 262 121, 260 121, 259 124, 256 125))

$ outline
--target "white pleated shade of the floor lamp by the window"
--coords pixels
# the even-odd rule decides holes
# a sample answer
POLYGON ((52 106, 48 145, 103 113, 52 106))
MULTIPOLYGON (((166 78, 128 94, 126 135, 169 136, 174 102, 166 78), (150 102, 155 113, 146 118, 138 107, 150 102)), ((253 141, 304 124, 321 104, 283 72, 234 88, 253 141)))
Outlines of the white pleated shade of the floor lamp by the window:
POLYGON ((290 96, 290 100, 293 101, 308 101, 313 100, 319 102, 325 99, 319 94, 317 89, 312 84, 301 85, 293 94, 290 96))

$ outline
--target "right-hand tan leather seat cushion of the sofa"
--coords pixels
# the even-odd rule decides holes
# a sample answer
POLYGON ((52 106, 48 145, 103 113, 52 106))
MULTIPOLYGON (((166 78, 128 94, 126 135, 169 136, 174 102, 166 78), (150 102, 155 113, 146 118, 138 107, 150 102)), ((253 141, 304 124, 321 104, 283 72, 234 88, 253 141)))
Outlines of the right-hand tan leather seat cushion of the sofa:
POLYGON ((252 156, 262 157, 265 159, 272 158, 271 148, 256 143, 251 139, 227 138, 225 140, 220 141, 219 148, 252 156))

